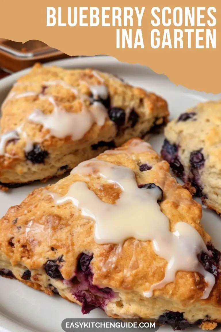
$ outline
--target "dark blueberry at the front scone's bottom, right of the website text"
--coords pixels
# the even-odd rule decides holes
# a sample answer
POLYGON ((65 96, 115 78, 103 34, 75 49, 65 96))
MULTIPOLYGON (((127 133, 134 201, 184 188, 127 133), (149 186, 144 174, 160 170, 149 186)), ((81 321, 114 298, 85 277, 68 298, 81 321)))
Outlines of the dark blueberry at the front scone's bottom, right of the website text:
POLYGON ((167 311, 158 317, 158 322, 161 325, 170 325, 173 330, 185 330, 187 327, 192 327, 193 325, 199 325, 202 321, 197 320, 194 323, 188 322, 184 318, 183 312, 167 311))

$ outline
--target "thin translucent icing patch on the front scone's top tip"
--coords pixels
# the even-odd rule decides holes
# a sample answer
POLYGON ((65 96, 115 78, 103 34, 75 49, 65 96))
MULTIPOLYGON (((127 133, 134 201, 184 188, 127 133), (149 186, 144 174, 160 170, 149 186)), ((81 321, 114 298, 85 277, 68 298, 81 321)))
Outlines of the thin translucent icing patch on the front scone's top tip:
POLYGON ((134 139, 127 148, 121 148, 119 150, 106 150, 103 154, 120 154, 120 153, 142 153, 153 151, 149 143, 134 139))

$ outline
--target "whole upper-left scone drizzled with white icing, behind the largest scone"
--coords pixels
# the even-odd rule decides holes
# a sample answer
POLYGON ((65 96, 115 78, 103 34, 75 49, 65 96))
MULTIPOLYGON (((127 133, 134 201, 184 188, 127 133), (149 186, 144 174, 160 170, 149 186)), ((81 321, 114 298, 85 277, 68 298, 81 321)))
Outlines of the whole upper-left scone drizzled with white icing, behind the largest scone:
POLYGON ((107 148, 167 122, 154 93, 92 69, 35 65, 2 105, 0 184, 61 175, 107 148))

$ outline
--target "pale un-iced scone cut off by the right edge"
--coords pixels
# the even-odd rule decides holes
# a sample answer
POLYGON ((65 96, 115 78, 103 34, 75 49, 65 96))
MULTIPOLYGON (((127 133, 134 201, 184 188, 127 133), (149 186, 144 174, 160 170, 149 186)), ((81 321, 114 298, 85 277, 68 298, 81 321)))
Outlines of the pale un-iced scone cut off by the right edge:
POLYGON ((186 187, 221 213, 221 101, 201 103, 165 128, 162 156, 186 187))

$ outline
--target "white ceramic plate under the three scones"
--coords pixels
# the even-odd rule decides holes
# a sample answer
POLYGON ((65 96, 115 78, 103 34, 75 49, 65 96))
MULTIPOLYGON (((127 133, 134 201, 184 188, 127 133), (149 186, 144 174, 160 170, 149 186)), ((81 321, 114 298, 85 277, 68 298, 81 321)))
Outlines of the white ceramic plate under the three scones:
MULTIPOLYGON (((133 85, 153 91, 168 101, 171 119, 199 102, 221 98, 221 94, 215 96, 176 86, 166 76, 158 75, 148 67, 122 63, 112 57, 69 58, 56 61, 53 64, 64 68, 93 67, 116 74, 133 85)), ((0 81, 0 104, 16 79, 27 71, 23 70, 0 81)), ((153 148, 158 152, 162 146, 163 138, 163 135, 155 135, 150 139, 153 148)), ((53 181, 49 183, 53 183, 53 181)), ((37 187, 42 187, 42 183, 13 189, 8 193, 0 192, 0 217, 5 214, 10 206, 20 204, 37 187)), ((202 224, 213 237, 216 248, 221 250, 221 218, 216 213, 203 209, 202 224)), ((91 311, 89 315, 82 316, 81 307, 77 304, 32 290, 16 280, 0 278, 1 332, 62 332, 61 322, 65 318, 101 318, 105 316, 103 311, 99 309, 91 311)), ((161 327, 161 329, 165 332, 172 331, 170 327, 161 327)), ((134 331, 136 330, 134 329, 134 331)), ((197 328, 192 330, 196 331, 197 328)), ((130 329, 130 331, 133 331, 133 329, 130 329)))

